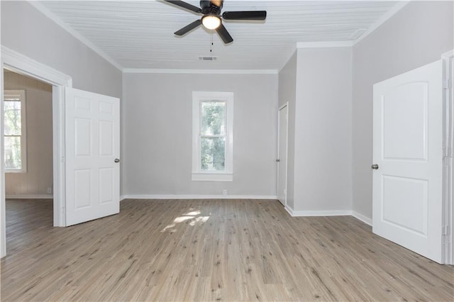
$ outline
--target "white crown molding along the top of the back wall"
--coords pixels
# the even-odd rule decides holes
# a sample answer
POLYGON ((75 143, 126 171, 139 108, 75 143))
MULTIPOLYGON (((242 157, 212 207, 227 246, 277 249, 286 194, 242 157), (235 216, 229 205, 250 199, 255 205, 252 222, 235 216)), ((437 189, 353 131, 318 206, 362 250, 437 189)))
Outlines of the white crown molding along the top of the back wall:
POLYGON ((277 74, 277 69, 147 69, 123 68, 126 74, 277 74))

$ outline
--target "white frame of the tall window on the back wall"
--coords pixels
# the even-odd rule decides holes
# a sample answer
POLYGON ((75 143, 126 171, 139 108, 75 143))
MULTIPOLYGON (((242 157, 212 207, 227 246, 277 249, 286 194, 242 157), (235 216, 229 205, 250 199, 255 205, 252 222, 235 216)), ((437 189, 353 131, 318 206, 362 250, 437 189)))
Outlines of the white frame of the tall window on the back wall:
POLYGON ((192 180, 233 181, 233 92, 192 91, 192 180), (202 101, 226 102, 225 171, 200 169, 200 108, 202 101))

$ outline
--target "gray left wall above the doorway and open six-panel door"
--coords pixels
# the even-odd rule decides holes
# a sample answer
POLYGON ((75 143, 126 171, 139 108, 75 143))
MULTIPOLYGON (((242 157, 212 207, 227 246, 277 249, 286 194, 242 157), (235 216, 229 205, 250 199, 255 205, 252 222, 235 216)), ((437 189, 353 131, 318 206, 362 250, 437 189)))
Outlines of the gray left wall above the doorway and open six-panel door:
POLYGON ((1 1, 1 45, 69 75, 74 88, 121 97, 121 71, 26 1, 1 1))

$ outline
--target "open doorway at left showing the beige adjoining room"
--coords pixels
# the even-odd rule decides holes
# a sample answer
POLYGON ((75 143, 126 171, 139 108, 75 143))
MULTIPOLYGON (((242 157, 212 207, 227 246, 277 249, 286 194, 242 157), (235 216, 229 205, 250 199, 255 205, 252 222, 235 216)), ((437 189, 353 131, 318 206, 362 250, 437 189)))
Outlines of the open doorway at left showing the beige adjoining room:
POLYGON ((6 242, 13 254, 31 244, 36 229, 53 225, 52 86, 6 69, 3 75, 6 242))

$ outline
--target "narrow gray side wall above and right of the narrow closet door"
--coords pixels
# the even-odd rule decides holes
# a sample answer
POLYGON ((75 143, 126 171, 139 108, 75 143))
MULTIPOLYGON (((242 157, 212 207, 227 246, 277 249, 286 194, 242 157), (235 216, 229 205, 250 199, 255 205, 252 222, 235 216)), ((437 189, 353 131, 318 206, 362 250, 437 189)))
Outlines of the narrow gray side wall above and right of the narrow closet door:
POLYGON ((290 57, 279 72, 279 107, 288 106, 288 142, 287 142, 287 206, 294 208, 294 164, 295 164, 295 108, 297 101, 297 52, 290 57))

